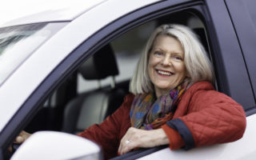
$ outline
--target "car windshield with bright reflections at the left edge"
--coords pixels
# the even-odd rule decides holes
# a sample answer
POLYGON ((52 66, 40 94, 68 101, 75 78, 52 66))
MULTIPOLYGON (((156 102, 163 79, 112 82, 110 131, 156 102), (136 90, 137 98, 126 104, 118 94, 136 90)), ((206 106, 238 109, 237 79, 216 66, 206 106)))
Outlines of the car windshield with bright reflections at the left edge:
POLYGON ((66 22, 38 23, 0 29, 0 86, 43 42, 66 22))

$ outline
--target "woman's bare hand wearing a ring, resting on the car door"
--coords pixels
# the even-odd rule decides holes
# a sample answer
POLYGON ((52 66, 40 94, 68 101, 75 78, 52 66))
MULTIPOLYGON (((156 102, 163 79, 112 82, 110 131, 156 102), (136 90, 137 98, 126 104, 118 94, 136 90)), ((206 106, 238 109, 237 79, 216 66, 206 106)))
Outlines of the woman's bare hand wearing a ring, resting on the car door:
POLYGON ((149 148, 169 144, 169 139, 162 129, 141 130, 130 127, 122 137, 118 154, 126 154, 137 147, 149 148))

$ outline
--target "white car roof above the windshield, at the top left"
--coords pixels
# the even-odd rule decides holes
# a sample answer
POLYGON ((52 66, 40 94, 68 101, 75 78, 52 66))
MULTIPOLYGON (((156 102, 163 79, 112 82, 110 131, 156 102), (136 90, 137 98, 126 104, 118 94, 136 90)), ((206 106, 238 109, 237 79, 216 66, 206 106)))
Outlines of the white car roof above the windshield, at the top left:
MULTIPOLYGON (((25 15, 19 18, 10 17, 6 22, 0 24, 0 27, 38 22, 68 22, 106 1, 107 0, 64 0, 54 3, 50 0, 46 0, 46 2, 42 3, 44 5, 38 7, 37 11, 34 10, 34 7, 41 5, 40 3, 36 6, 27 6, 26 9, 15 10, 15 12, 18 12, 17 14, 25 15)), ((26 0, 26 2, 30 2, 30 0, 26 0)))

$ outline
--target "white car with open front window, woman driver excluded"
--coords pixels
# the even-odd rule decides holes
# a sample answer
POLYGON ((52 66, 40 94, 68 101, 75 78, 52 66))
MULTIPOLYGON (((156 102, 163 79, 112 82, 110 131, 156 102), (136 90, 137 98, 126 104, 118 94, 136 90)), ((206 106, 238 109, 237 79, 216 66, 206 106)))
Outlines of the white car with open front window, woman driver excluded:
POLYGON ((246 111, 246 132, 236 142, 188 151, 158 146, 113 159, 254 159, 254 6, 254 0, 71 1, 2 24, 0 159, 102 159, 97 144, 73 134, 118 108, 146 39, 162 23, 198 34, 214 63, 216 89, 246 111), (21 130, 35 134, 11 155, 21 130))

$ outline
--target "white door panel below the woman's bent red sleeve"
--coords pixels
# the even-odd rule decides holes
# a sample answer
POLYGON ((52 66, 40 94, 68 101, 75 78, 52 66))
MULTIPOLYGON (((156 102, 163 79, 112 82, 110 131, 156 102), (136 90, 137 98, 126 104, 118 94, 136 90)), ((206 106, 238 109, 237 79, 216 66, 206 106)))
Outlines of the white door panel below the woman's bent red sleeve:
MULTIPOLYGON (((140 160, 154 159, 190 159, 190 160, 253 160, 256 158, 255 135, 256 135, 256 114, 246 118, 246 132, 241 139, 236 142, 229 142, 214 146, 203 146, 193 150, 170 150, 169 148, 159 150, 153 154, 148 154, 140 160)), ((226 133, 229 134, 229 133, 226 133)))

